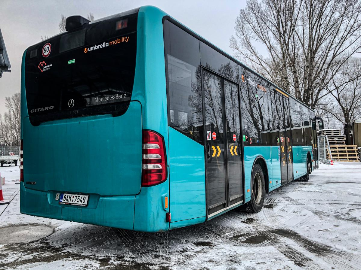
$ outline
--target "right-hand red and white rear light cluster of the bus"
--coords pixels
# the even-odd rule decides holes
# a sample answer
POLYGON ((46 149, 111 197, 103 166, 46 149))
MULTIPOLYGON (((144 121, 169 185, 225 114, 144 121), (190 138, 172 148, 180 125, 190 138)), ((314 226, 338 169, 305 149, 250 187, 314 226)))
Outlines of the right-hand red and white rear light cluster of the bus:
POLYGON ((142 186, 153 186, 167 179, 163 137, 155 131, 143 130, 142 186))

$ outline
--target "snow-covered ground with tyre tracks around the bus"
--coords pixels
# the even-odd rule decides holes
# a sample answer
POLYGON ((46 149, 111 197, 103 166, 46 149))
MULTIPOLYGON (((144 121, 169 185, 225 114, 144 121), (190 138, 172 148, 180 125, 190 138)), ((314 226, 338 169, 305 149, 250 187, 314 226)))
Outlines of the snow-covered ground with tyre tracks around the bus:
POLYGON ((0 269, 361 267, 361 162, 320 164, 309 182, 266 195, 258 214, 230 211, 155 234, 20 214, 19 169, 0 172, 12 200, 0 205, 0 269))

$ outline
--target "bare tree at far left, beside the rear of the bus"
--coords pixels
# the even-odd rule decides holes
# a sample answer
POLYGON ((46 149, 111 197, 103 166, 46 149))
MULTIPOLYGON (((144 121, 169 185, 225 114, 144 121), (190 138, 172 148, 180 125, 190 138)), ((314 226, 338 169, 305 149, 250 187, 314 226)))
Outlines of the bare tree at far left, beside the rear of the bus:
POLYGON ((4 145, 20 145, 20 93, 6 97, 5 107, 8 111, 0 115, 0 141, 4 145))

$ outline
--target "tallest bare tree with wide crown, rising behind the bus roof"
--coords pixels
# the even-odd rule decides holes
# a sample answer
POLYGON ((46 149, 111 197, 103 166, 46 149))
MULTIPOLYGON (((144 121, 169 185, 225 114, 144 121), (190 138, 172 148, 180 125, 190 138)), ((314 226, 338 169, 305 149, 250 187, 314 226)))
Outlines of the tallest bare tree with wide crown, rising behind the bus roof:
POLYGON ((230 47, 235 57, 315 108, 330 93, 325 87, 331 71, 361 52, 360 14, 360 0, 248 0, 230 47))

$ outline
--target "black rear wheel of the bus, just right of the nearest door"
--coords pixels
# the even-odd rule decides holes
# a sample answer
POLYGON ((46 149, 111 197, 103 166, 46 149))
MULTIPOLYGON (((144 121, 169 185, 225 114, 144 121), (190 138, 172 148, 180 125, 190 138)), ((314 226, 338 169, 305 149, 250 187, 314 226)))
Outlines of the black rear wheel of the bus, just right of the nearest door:
POLYGON ((262 210, 265 200, 265 176, 259 164, 255 164, 251 178, 251 201, 243 209, 249 213, 258 213, 262 210))

